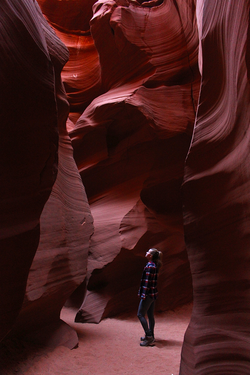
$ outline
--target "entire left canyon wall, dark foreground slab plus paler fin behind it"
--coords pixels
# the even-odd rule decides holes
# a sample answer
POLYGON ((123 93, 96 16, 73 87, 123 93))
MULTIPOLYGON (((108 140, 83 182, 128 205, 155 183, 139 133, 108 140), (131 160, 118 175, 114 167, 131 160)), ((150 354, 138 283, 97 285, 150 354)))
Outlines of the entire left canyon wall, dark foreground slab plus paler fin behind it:
MULTIPOLYGON (((65 336, 57 338, 60 343, 74 347, 77 335, 60 322, 60 311, 84 280, 93 218, 66 130, 69 104, 61 69, 69 54, 36 1, 4 1, 0 7, 5 31, 1 217, 6 237, 1 252, 1 336, 15 320, 12 335, 53 323, 57 334, 65 336)), ((43 341, 48 339, 45 335, 43 341)))

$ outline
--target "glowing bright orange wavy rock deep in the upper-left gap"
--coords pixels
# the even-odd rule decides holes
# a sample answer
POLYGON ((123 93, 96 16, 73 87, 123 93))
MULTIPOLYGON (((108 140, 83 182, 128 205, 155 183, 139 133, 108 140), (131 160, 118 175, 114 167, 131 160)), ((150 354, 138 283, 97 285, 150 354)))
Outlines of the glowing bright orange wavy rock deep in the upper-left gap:
POLYGON ((94 0, 38 0, 43 15, 70 52, 61 77, 70 111, 81 111, 101 92, 99 57, 90 34, 94 0))

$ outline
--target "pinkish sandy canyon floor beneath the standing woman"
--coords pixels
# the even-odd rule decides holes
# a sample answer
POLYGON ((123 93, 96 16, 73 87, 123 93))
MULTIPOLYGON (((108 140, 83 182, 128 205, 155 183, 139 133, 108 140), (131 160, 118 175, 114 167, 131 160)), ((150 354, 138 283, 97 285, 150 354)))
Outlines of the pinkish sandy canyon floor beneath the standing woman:
POLYGON ((155 345, 140 347, 141 324, 128 314, 99 324, 74 323, 75 310, 63 308, 61 319, 75 328, 79 347, 34 347, 12 340, 2 345, 1 375, 178 375, 183 336, 192 303, 156 314, 155 345))

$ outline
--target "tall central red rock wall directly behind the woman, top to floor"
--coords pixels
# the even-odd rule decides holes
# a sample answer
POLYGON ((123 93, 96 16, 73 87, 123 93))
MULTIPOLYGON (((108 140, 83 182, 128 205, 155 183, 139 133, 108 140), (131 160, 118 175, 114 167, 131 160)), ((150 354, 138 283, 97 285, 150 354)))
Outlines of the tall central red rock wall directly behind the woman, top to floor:
POLYGON ((93 11, 104 93, 67 126, 95 226, 76 321, 98 323, 138 306, 150 247, 165 256, 158 311, 192 299, 180 187, 200 75, 194 1, 103 0, 93 11))

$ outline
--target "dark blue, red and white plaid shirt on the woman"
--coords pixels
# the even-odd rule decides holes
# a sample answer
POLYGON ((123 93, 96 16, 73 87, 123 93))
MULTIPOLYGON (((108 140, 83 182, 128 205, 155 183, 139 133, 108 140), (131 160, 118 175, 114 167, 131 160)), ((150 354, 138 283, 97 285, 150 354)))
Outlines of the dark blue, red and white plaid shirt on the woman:
POLYGON ((157 267, 154 262, 148 262, 142 273, 141 286, 139 289, 138 296, 142 300, 145 300, 147 295, 153 299, 157 299, 157 267))

